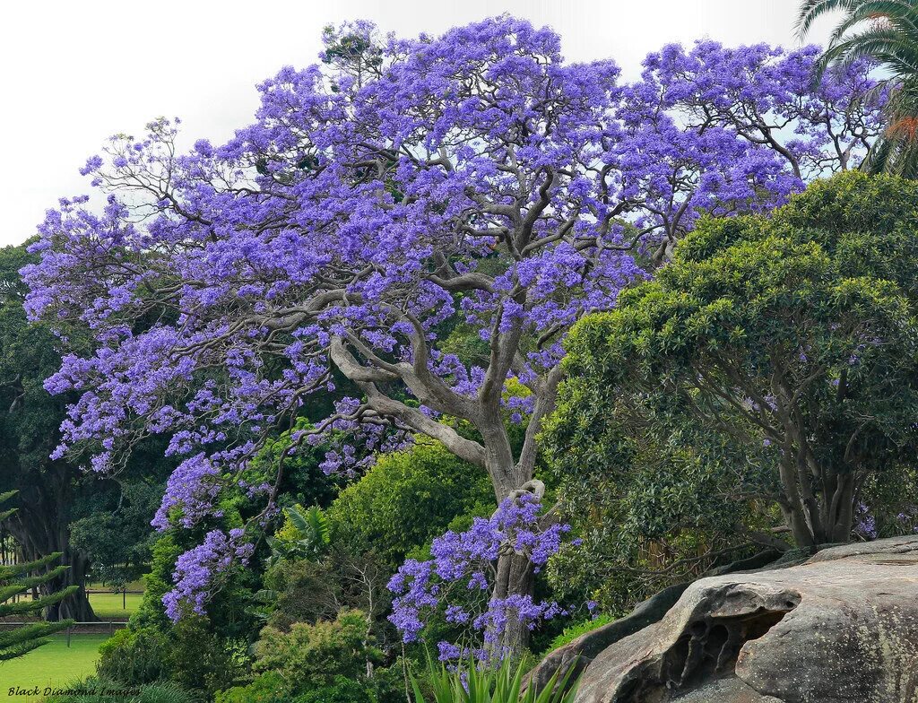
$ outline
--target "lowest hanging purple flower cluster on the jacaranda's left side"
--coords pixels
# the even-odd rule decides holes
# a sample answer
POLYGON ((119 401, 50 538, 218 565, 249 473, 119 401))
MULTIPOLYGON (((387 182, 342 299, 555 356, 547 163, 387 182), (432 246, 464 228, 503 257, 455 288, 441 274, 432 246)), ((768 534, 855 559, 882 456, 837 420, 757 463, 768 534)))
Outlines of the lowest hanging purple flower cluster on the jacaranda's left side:
POLYGON ((207 598, 230 565, 245 564, 252 544, 242 541, 240 529, 207 532, 204 542, 182 554, 175 562, 174 588, 162 597, 166 615, 175 622, 188 612, 203 614, 207 598))

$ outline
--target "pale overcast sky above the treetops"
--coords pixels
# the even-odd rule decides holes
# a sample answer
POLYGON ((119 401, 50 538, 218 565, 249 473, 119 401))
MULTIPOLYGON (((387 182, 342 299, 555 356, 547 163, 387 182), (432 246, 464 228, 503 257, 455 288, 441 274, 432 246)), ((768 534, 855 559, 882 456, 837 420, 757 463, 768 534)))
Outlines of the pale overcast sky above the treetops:
MULTIPOLYGON (((661 45, 695 39, 797 46, 799 0, 32 0, 0 28, 0 245, 35 232, 78 169, 118 132, 181 117, 183 141, 228 138, 251 121, 254 84, 317 61, 321 28, 375 21, 415 36, 509 12, 560 32, 571 61, 611 57, 626 78, 661 45)), ((814 28, 823 41, 831 19, 814 28)))

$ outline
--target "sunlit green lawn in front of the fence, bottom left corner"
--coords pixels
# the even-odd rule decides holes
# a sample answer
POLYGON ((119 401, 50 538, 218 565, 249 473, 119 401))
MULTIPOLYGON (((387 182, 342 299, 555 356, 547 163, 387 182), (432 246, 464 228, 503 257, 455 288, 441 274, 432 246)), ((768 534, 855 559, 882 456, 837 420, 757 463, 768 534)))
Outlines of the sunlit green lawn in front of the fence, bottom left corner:
POLYGON ((49 644, 18 659, 0 662, 0 701, 41 700, 41 696, 10 696, 10 686, 26 689, 63 686, 94 675, 99 645, 107 638, 107 634, 73 635, 68 648, 66 635, 53 635, 49 644))

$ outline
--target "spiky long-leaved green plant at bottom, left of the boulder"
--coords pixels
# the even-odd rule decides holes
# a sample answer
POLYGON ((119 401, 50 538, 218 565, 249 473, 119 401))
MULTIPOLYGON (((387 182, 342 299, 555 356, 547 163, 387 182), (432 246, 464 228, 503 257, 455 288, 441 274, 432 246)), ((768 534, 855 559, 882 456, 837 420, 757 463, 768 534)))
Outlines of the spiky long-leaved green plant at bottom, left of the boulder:
POLYGON ((412 703, 571 703, 577 694, 574 668, 562 675, 559 670, 542 690, 522 690, 526 667, 504 663, 499 668, 479 668, 474 661, 465 662, 455 671, 444 664, 428 663, 427 683, 432 698, 428 701, 419 680, 409 675, 414 693, 412 703))

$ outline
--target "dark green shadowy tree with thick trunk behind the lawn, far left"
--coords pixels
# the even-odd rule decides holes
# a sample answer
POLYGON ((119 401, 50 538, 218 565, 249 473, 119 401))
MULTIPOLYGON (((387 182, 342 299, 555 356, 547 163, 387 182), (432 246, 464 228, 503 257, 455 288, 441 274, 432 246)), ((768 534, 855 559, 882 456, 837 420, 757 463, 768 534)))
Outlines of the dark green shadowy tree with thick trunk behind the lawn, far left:
MULTIPOLYGON (((106 581, 135 578, 149 560, 150 520, 172 465, 162 447, 144 441, 116 475, 84 472, 74 459, 50 459, 71 396, 50 396, 44 380, 61 363, 60 340, 44 323, 29 324, 19 269, 35 261, 25 246, 0 249, 0 490, 16 490, 6 520, 28 560, 60 552, 69 568, 41 586, 68 586, 47 619, 95 620, 85 594, 91 568, 106 581)), ((81 339, 73 326, 71 341, 81 339)))

